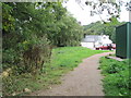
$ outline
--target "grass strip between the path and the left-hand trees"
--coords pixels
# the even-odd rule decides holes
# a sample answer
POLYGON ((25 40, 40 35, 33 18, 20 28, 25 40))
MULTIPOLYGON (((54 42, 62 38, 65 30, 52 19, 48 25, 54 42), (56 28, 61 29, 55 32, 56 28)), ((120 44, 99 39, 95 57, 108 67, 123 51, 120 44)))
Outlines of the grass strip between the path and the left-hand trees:
POLYGON ((3 78, 3 95, 25 95, 23 89, 32 91, 50 88, 50 85, 60 84, 60 77, 72 71, 82 59, 106 51, 91 50, 82 47, 63 47, 52 50, 50 63, 36 75, 29 73, 3 78))

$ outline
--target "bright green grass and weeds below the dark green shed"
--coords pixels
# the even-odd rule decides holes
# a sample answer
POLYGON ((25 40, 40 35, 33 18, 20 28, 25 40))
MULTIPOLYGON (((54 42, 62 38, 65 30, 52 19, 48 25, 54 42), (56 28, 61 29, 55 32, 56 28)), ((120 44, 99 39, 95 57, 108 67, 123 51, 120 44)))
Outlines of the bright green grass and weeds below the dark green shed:
MULTIPOLYGON (((129 96, 131 81, 129 78, 129 60, 116 61, 102 58, 100 60, 104 91, 106 96, 129 96)), ((130 95, 131 96, 131 95, 130 95)))

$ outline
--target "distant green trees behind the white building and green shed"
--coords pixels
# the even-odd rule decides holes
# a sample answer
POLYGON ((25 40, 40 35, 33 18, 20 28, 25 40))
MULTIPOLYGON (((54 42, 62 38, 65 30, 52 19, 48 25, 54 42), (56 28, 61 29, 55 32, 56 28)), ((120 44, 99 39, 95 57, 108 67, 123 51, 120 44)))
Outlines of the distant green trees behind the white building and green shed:
POLYGON ((103 24, 102 22, 91 23, 84 25, 84 34, 86 35, 108 35, 110 39, 116 42, 116 27, 124 24, 124 22, 118 22, 117 17, 111 17, 110 22, 103 24))

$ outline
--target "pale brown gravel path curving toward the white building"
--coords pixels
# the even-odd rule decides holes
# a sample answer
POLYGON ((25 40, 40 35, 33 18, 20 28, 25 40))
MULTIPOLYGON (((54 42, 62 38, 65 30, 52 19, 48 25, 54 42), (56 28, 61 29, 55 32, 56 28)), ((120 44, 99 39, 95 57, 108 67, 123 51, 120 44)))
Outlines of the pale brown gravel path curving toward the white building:
POLYGON ((99 58, 112 52, 92 56, 62 77, 62 84, 55 85, 51 89, 33 93, 32 96, 104 96, 99 58))

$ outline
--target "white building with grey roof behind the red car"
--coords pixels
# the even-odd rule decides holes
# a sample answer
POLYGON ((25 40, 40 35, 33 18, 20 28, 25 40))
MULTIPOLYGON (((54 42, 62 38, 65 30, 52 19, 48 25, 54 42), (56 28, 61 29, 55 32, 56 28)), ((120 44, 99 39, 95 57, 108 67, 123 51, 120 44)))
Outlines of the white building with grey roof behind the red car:
POLYGON ((82 39, 81 46, 86 48, 95 48, 99 47, 104 44, 112 44, 109 39, 109 36, 106 35, 86 35, 85 38, 82 39))

